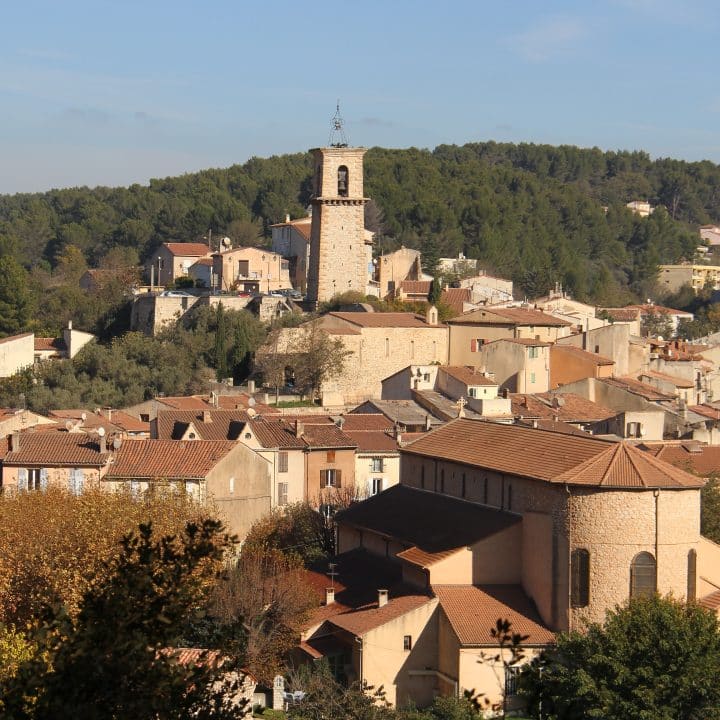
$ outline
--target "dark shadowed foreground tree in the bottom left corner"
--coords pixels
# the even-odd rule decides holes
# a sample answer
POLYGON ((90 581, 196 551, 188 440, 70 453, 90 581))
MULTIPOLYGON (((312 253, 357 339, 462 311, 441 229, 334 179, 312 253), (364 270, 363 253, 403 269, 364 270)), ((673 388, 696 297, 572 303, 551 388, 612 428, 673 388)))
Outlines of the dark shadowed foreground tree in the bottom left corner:
POLYGON ((150 524, 127 535, 108 580, 83 598, 71 619, 53 608, 31 638, 34 657, 1 688, 12 720, 231 718, 234 689, 208 657, 177 662, 172 647, 199 611, 230 539, 214 520, 156 538, 150 524))

